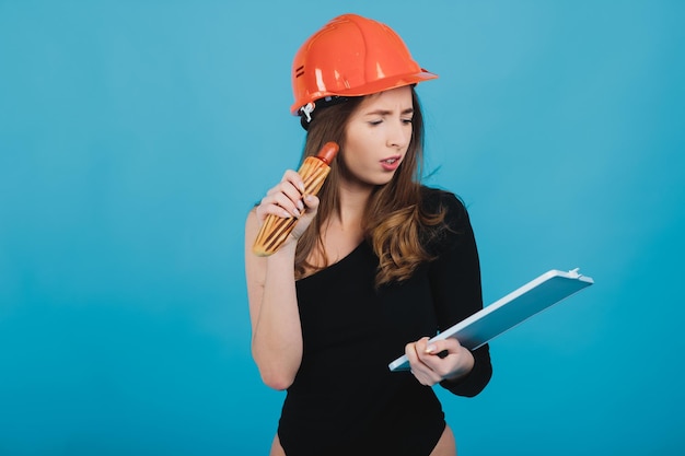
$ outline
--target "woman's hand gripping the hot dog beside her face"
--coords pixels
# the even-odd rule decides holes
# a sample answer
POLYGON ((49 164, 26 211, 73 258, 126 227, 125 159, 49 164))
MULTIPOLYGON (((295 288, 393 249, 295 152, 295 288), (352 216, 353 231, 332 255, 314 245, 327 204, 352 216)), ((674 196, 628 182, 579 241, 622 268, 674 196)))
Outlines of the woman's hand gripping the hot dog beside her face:
POLYGON ((304 195, 302 176, 295 171, 288 169, 281 182, 262 198, 257 206, 257 220, 263 224, 269 214, 298 219, 289 236, 297 241, 312 223, 317 209, 318 198, 314 195, 304 195))

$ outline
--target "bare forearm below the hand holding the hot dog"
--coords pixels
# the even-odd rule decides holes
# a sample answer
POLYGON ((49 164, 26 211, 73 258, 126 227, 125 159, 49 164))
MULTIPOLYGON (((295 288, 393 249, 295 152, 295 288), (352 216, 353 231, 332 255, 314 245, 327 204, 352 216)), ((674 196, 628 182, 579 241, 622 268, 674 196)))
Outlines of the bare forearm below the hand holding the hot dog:
POLYGON ((285 389, 302 361, 302 328, 294 280, 295 243, 288 243, 267 259, 259 314, 252 352, 264 382, 285 389))

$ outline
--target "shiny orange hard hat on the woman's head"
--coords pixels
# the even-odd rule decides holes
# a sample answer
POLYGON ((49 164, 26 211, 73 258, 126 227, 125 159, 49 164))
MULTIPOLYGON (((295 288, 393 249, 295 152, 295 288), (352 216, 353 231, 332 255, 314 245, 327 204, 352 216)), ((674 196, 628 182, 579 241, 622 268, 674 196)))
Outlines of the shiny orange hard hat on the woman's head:
MULTIPOLYGON (((387 25, 357 14, 333 19, 292 63, 293 115, 330 96, 362 96, 438 78, 423 70, 387 25)), ((309 112, 309 113, 307 113, 309 112)))

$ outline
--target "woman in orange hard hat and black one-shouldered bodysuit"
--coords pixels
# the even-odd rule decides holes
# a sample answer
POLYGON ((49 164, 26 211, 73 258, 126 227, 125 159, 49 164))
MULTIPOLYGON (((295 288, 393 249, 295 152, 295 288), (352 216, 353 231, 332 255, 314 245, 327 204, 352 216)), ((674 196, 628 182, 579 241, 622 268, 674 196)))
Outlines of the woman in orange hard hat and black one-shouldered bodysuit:
POLYGON ((304 43, 292 78, 303 156, 328 141, 340 152, 318 198, 288 171, 246 222, 253 356, 288 390, 271 455, 455 455, 430 386, 475 396, 491 365, 487 346, 428 344, 483 307, 464 206, 419 183, 414 86, 437 77, 391 28, 346 14, 304 43), (257 257, 267 214, 299 221, 257 257), (411 371, 390 372, 403 348, 411 371))

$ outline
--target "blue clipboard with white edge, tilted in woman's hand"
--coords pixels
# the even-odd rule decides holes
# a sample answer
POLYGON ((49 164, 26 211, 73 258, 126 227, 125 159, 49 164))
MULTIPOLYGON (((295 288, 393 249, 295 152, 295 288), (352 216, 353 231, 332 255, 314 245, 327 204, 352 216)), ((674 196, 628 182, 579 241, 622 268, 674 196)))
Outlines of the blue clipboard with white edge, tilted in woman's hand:
MULTIPOLYGON (((533 315, 594 283, 592 278, 580 274, 578 270, 564 272, 552 269, 440 332, 430 341, 454 337, 463 347, 476 350, 533 315)), ((407 355, 397 358, 388 367, 393 372, 409 370, 407 355)))

